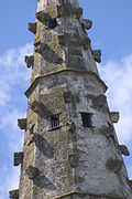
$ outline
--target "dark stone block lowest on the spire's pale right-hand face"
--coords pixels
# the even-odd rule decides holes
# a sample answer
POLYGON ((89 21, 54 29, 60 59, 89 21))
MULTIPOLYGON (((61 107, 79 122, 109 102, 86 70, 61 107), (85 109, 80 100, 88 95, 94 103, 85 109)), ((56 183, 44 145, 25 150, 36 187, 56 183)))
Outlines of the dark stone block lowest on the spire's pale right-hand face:
POLYGON ((119 172, 122 168, 122 160, 120 159, 109 159, 107 161, 107 169, 112 172, 119 172))

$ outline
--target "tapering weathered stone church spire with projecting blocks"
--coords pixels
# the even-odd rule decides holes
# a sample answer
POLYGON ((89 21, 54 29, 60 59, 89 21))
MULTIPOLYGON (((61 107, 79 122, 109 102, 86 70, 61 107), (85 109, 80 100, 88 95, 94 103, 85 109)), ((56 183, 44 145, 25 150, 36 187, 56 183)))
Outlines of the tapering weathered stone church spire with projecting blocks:
POLYGON ((34 53, 25 56, 32 67, 23 151, 14 153, 21 164, 19 190, 12 199, 132 199, 113 123, 96 62, 101 51, 92 50, 77 0, 38 0, 34 53))

